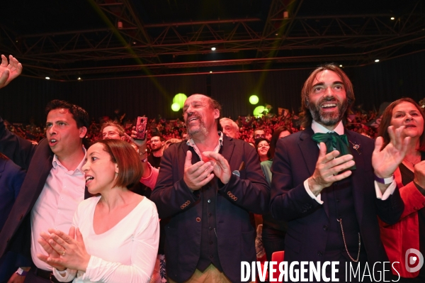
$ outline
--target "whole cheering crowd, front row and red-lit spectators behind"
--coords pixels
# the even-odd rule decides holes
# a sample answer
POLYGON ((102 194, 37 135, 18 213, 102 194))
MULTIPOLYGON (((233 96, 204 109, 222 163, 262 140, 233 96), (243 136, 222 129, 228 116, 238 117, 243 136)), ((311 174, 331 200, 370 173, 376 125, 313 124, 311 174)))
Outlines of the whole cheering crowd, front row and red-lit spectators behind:
MULTIPOLYGON (((1 55, 0 88, 22 68, 1 55)), ((258 216, 268 260, 323 264, 285 282, 424 282, 404 260, 425 253, 421 106, 392 102, 376 131, 378 113, 350 112, 336 65, 301 100, 297 115, 233 121, 193 94, 183 120, 152 119, 145 139, 67 101, 47 104, 44 127, 0 118, 0 282, 242 282, 258 216)))

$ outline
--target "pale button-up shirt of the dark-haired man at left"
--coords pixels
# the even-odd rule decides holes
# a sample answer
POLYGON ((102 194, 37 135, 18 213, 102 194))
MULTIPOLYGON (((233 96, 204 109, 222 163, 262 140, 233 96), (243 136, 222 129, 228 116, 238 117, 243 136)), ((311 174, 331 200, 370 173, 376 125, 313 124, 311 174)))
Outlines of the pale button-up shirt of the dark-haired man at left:
POLYGON ((40 233, 47 232, 49 228, 68 233, 77 206, 84 200, 86 179, 81 167, 86 158, 86 149, 83 150, 84 157, 73 171, 67 170, 57 155, 53 157, 53 167, 31 210, 31 257, 35 266, 42 270, 52 270, 52 267, 37 257, 38 253, 47 255, 37 242, 40 233))

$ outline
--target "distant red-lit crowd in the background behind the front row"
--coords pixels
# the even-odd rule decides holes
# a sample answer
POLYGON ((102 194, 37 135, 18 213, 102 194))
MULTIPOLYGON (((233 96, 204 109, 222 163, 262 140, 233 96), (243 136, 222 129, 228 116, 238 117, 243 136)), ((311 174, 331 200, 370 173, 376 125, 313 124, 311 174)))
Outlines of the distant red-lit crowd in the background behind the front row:
MULTIPOLYGON (((379 115, 378 111, 363 111, 357 110, 353 111, 350 115, 351 120, 348 120, 346 128, 363 135, 367 135, 370 138, 376 138, 378 136, 378 128, 370 126, 372 121, 375 121, 375 118, 379 115)), ((302 117, 301 117, 302 118, 302 117)), ((285 113, 285 116, 281 115, 264 115, 261 117, 254 116, 239 116, 234 122, 237 125, 237 137, 240 140, 244 140, 247 143, 255 143, 254 131, 256 129, 262 129, 265 132, 265 138, 271 140, 271 136, 274 131, 281 126, 290 128, 292 133, 302 130, 300 114, 295 113, 285 113)), ((230 118, 222 118, 223 121, 230 118)), ((45 138, 45 126, 36 125, 33 119, 30 119, 30 123, 11 123, 9 121, 4 121, 6 127, 12 133, 19 135, 21 138, 30 140, 38 143, 42 138, 45 138)), ((130 135, 131 128, 134 126, 134 121, 128 120, 123 123, 117 120, 109 120, 108 116, 104 116, 98 119, 99 122, 93 118, 91 120, 90 126, 87 130, 86 138, 90 143, 95 143, 98 140, 101 140, 102 133, 101 127, 103 123, 107 121, 114 121, 115 123, 120 124, 124 128, 126 134, 130 135)), ((233 120, 232 120, 233 121, 233 120)), ((149 139, 152 135, 159 134, 164 138, 164 140, 171 139, 181 139, 184 140, 187 137, 186 126, 183 121, 180 119, 176 120, 166 120, 164 118, 151 118, 148 121, 149 127, 147 128, 147 138, 148 138, 148 148, 150 149, 149 139)), ((222 124, 222 123, 220 123, 222 124)), ((378 126, 378 125, 377 125, 378 126)), ((223 128, 223 126, 222 126, 223 128)))

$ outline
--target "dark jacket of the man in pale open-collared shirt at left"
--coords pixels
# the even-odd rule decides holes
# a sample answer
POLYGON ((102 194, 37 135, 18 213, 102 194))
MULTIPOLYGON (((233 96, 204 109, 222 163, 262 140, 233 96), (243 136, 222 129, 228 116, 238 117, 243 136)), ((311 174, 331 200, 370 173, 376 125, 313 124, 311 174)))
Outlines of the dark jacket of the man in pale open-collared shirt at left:
MULTIPOLYGON (((27 170, 21 192, 0 232, 0 257, 6 250, 31 258, 30 255, 30 211, 42 192, 46 179, 52 169, 53 152, 47 139, 38 145, 19 138, 6 129, 0 118, 0 152, 16 165, 27 170)), ((89 196, 86 188, 85 197, 89 196)))

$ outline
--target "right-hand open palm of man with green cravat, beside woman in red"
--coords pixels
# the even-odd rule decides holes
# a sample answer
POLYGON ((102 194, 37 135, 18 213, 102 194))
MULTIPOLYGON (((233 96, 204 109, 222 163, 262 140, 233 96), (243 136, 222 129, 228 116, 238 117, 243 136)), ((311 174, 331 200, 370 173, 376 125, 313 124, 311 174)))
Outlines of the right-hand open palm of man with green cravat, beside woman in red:
POLYGON ((394 126, 389 126, 387 131, 390 135, 390 143, 382 150, 384 139, 382 137, 376 138, 375 150, 373 150, 372 154, 372 166, 378 177, 391 177, 403 161, 410 140, 410 137, 404 137, 402 135, 403 130, 404 126, 400 126, 397 129, 394 126))

